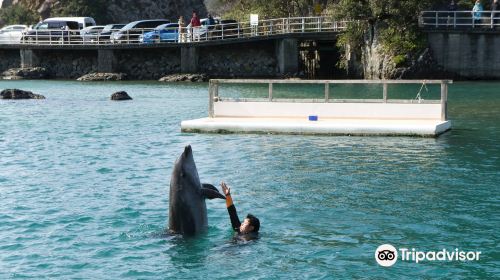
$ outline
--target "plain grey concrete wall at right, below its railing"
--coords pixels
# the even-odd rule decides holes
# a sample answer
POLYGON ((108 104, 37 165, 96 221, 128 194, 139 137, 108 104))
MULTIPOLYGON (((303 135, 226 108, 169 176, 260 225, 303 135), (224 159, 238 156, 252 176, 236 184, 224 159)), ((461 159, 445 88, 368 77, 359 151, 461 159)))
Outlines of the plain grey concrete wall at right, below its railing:
POLYGON ((500 34, 487 31, 430 32, 436 62, 466 79, 500 78, 500 34))

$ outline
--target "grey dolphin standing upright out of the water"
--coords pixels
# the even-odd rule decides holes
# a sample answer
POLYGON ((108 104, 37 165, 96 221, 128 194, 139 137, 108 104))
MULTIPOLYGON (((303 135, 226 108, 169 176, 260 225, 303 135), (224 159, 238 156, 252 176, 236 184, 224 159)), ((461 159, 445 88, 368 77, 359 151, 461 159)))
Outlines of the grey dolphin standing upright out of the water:
POLYGON ((201 184, 190 145, 175 161, 169 197, 169 231, 186 236, 207 231, 206 198, 226 199, 213 185, 201 184))

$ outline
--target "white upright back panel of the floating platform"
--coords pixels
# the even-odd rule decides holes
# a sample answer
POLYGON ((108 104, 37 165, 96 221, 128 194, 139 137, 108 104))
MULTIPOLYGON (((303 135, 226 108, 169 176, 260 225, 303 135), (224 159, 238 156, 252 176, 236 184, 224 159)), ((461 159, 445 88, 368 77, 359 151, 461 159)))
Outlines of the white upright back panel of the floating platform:
POLYGON ((440 120, 441 104, 215 102, 214 117, 440 120))

